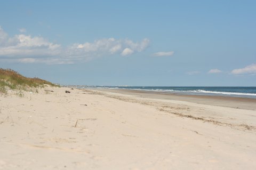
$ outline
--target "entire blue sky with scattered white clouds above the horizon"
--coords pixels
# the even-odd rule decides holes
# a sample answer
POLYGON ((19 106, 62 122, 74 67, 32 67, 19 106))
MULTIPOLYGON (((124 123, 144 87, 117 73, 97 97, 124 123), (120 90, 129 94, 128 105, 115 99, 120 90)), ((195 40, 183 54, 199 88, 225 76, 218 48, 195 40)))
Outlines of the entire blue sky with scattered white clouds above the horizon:
POLYGON ((62 85, 256 86, 256 1, 2 1, 0 68, 62 85))

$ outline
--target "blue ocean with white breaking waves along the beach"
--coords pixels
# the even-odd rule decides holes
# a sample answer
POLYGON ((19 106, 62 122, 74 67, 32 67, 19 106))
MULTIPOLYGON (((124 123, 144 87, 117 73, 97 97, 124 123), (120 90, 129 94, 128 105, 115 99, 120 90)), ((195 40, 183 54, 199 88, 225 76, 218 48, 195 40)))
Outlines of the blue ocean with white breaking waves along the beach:
POLYGON ((152 92, 165 92, 188 95, 215 95, 233 96, 242 98, 255 98, 256 87, 163 87, 163 86, 87 86, 74 85, 77 88, 119 88, 130 90, 143 90, 152 92))

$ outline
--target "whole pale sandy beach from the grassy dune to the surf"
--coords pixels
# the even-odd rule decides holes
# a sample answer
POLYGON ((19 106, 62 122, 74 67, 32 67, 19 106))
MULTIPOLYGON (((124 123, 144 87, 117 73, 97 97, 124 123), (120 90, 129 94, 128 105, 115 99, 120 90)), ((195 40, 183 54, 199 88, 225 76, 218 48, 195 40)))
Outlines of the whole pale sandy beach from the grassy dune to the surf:
POLYGON ((253 100, 44 90, 0 96, 0 169, 256 167, 253 100))

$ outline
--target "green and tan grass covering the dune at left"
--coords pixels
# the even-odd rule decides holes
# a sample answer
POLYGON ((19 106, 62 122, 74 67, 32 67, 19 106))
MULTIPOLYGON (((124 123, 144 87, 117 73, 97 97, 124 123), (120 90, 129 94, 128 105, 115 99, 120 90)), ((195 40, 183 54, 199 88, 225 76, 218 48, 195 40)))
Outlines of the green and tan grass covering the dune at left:
POLYGON ((17 71, 0 68, 0 93, 7 94, 7 89, 27 90, 28 88, 44 87, 44 85, 58 86, 40 78, 29 78, 17 71))

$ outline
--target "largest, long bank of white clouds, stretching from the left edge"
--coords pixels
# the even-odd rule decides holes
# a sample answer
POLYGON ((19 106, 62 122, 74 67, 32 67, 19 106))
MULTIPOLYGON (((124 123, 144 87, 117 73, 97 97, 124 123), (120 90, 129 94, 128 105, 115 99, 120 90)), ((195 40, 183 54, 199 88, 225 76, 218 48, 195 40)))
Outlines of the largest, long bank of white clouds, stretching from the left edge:
MULTIPOLYGON (((26 29, 20 29, 25 33, 26 29)), ((144 51, 149 39, 133 42, 130 39, 103 38, 83 44, 74 43, 63 47, 41 36, 19 34, 9 37, 0 26, 0 60, 21 63, 71 64, 101 56, 131 55, 144 51)))

